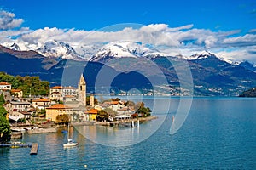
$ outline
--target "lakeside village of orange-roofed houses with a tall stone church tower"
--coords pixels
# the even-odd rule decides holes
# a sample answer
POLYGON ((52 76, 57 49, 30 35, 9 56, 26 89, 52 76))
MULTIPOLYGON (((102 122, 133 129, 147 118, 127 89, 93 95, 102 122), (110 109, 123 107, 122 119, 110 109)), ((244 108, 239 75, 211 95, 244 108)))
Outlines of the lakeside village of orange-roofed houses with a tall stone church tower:
POLYGON ((98 102, 93 94, 86 94, 86 82, 81 75, 78 87, 55 86, 49 89, 49 96, 23 97, 20 89, 12 84, 0 82, 0 94, 3 94, 8 111, 11 130, 30 133, 55 132, 50 127, 73 125, 113 125, 111 122, 131 122, 150 116, 151 110, 143 102, 108 99, 98 102), (35 131, 36 128, 44 131, 35 131))

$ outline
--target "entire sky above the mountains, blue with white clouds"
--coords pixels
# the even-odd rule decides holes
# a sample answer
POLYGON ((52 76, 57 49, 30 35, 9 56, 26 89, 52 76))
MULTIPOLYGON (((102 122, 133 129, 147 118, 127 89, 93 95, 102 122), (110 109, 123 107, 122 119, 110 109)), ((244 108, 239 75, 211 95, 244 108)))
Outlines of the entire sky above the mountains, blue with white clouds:
POLYGON ((256 2, 0 0, 1 44, 32 48, 55 39, 80 47, 83 39, 89 47, 124 37, 256 63, 256 2))

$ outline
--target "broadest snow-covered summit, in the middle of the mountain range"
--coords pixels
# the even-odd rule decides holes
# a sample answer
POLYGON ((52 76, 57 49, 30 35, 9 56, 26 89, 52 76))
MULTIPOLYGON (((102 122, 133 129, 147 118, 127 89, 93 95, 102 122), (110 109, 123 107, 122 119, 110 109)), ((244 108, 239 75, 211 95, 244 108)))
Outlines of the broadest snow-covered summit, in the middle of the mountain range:
POLYGON ((90 61, 106 62, 114 58, 154 58, 156 56, 163 56, 158 50, 150 47, 148 44, 141 42, 111 42, 100 48, 96 54, 92 56, 90 61))

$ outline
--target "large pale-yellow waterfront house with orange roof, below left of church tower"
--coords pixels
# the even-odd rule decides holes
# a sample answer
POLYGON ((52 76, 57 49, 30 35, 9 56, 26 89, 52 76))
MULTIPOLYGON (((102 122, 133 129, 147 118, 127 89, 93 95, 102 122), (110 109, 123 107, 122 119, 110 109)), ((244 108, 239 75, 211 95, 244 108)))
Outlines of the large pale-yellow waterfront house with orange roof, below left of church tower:
POLYGON ((69 115, 70 118, 72 118, 73 108, 68 107, 67 105, 56 104, 46 108, 45 117, 46 119, 56 122, 56 117, 58 115, 64 115, 64 114, 67 114, 69 115))

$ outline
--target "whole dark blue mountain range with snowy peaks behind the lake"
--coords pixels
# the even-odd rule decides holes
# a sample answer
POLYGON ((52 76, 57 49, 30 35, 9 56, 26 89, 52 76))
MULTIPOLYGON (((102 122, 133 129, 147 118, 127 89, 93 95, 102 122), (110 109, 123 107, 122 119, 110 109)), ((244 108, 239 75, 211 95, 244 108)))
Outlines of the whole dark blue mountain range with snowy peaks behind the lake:
POLYGON ((19 44, 0 45, 0 59, 0 71, 20 76, 38 75, 52 86, 61 83, 76 86, 79 74, 84 72, 88 91, 92 93, 96 88, 115 94, 137 88, 150 94, 153 85, 149 79, 158 80, 164 75, 167 84, 156 82, 156 94, 185 95, 173 65, 180 60, 186 60, 190 67, 194 95, 234 96, 256 86, 256 68, 247 61, 229 63, 209 52, 189 57, 166 56, 141 42, 108 43, 89 61, 65 42, 45 42, 34 50, 21 50, 19 44), (99 83, 97 77, 102 68, 104 76, 99 83), (145 68, 145 72, 138 68, 145 68), (160 69, 161 74, 154 71, 155 68, 160 69), (65 80, 62 78, 61 82, 62 75, 65 80), (108 77, 114 77, 111 83, 108 77))

